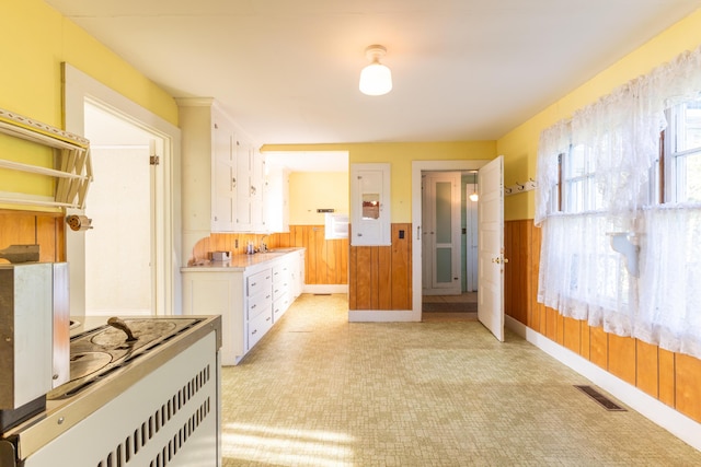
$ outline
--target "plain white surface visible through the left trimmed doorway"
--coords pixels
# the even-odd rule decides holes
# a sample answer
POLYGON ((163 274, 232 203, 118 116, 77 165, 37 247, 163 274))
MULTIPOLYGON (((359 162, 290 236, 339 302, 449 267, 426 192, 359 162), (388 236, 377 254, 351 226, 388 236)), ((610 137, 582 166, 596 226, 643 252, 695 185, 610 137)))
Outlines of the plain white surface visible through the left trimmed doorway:
POLYGON ((147 131, 90 104, 84 135, 94 176, 85 205, 93 225, 85 232, 85 314, 153 314, 157 166, 149 156, 162 151, 147 131))

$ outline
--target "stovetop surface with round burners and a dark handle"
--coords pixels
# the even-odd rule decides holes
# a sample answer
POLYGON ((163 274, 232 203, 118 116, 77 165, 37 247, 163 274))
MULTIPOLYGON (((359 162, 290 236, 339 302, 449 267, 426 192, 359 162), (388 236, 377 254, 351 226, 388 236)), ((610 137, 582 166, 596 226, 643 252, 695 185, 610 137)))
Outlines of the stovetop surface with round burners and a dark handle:
POLYGON ((202 319, 127 318, 116 320, 120 326, 127 326, 128 330, 134 334, 135 340, 128 340, 125 330, 113 326, 102 326, 73 336, 70 341, 70 381, 48 393, 47 399, 74 396, 106 374, 143 355, 202 319))

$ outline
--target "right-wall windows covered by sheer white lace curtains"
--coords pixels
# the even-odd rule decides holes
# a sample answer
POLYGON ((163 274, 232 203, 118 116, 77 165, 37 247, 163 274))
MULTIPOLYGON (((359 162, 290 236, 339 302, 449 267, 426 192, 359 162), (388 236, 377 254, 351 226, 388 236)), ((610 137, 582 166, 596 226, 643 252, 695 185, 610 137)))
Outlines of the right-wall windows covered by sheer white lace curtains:
POLYGON ((699 62, 701 47, 544 129, 533 219, 540 303, 697 358, 699 62))

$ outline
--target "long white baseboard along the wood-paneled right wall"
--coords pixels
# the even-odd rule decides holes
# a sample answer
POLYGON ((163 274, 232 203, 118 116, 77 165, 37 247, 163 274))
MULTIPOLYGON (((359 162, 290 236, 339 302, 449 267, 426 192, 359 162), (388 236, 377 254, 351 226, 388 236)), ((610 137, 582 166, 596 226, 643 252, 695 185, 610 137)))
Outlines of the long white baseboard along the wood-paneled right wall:
POLYGON ((588 378, 636 412, 648 418, 685 443, 701 451, 701 423, 691 420, 683 413, 643 393, 630 383, 595 365, 570 349, 548 339, 542 334, 535 331, 510 316, 505 316, 505 325, 508 329, 588 378))

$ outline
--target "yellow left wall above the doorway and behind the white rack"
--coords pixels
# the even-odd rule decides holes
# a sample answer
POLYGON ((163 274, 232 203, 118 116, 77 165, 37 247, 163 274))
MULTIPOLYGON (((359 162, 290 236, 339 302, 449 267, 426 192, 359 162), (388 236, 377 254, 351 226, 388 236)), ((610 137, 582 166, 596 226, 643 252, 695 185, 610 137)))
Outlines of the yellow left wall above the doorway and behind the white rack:
MULTIPOLYGON (((177 106, 165 91, 43 1, 3 0, 1 10, 0 108, 62 128, 61 62, 66 61, 177 125, 177 106)), ((21 148, 10 138, 0 138, 0 154, 51 164, 43 148, 21 148)), ((47 195, 46 178, 22 176, 16 188, 10 184, 16 176, 0 172, 0 190, 47 195)))

